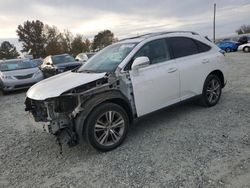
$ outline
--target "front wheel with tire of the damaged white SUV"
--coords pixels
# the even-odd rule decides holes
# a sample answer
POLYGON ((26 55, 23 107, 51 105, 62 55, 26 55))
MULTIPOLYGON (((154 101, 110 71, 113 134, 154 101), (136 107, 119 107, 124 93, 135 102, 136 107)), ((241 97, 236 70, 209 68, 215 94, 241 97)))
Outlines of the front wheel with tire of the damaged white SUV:
POLYGON ((122 144, 128 127, 129 118, 121 106, 103 103, 88 116, 83 136, 93 148, 106 152, 122 144))

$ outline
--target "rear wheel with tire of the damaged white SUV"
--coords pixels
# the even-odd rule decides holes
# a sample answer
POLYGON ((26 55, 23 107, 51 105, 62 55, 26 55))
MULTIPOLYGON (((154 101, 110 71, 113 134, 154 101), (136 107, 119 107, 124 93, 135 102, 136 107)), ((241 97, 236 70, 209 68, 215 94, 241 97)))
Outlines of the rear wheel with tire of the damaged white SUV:
POLYGON ((209 75, 204 83, 201 101, 204 106, 216 105, 221 97, 222 83, 216 75, 209 75))

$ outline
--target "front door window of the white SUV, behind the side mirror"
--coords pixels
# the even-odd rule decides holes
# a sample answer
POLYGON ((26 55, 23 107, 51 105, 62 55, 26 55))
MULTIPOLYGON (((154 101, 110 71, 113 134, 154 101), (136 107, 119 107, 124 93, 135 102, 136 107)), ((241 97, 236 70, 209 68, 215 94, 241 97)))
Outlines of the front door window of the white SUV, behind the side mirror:
POLYGON ((150 64, 161 63, 171 59, 169 47, 165 39, 158 39, 145 44, 130 60, 124 70, 130 70, 132 63, 137 57, 146 56, 150 64))

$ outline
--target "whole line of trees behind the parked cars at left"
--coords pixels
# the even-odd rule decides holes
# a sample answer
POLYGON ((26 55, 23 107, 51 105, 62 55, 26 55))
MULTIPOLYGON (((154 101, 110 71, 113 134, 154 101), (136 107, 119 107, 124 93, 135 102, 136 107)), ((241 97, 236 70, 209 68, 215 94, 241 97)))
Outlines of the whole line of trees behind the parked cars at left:
MULTIPOLYGON (((44 24, 39 20, 26 21, 17 27, 18 41, 22 44, 21 52, 28 52, 34 58, 68 53, 76 56, 82 52, 98 51, 118 41, 110 30, 100 31, 93 41, 82 34, 73 35, 69 30, 61 32, 56 26, 44 24)), ((0 59, 16 58, 16 47, 8 41, 0 46, 0 59)))

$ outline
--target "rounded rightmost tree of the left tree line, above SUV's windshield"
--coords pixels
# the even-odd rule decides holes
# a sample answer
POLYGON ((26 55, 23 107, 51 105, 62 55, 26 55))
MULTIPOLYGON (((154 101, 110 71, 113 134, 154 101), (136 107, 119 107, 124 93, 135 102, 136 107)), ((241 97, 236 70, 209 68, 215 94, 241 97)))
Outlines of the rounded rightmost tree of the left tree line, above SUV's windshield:
POLYGON ((102 48, 112 44, 114 42, 114 34, 110 30, 104 30, 99 32, 95 37, 92 44, 94 51, 101 50, 102 48))

